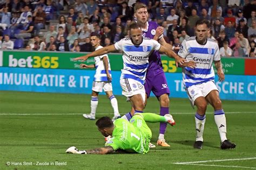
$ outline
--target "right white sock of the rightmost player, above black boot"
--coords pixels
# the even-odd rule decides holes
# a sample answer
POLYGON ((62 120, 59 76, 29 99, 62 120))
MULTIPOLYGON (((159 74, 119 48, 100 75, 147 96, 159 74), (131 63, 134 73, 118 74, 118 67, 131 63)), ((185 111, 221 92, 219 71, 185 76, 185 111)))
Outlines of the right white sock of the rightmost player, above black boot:
POLYGON ((226 117, 223 109, 214 111, 214 120, 220 133, 221 142, 227 140, 226 117))

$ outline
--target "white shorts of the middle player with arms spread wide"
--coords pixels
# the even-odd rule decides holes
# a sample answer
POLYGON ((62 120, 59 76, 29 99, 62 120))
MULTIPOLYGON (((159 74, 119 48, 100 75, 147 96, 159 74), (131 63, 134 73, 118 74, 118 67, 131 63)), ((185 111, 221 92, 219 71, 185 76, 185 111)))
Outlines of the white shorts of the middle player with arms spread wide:
POLYGON ((130 100, 129 97, 141 94, 145 102, 146 91, 142 83, 133 79, 120 79, 120 85, 123 89, 122 95, 127 97, 127 101, 130 100))

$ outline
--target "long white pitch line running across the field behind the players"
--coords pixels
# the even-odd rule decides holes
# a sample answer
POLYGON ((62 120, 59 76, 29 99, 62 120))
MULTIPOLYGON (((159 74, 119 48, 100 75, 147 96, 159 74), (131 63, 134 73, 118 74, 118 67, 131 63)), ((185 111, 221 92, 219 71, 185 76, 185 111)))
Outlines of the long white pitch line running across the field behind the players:
MULTIPOLYGON (((12 114, 12 113, 0 113, 0 116, 26 116, 26 115, 82 115, 83 113, 75 113, 75 114, 12 114)), ((176 113, 171 113, 173 115, 194 115, 194 112, 176 112, 176 113)), ((213 112, 207 112, 206 114, 213 114, 213 112)), ((235 111, 235 112, 225 112, 225 114, 256 114, 255 111, 245 111, 245 112, 241 112, 241 111, 235 111)), ((97 115, 107 115, 107 113, 102 114, 102 113, 97 113, 97 115)))

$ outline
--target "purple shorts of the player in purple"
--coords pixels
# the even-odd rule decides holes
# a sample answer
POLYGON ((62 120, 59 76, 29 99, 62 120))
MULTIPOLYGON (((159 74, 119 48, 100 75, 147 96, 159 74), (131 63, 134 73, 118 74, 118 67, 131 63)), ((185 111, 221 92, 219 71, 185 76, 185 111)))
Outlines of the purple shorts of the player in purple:
POLYGON ((163 94, 170 94, 163 69, 147 72, 144 87, 147 97, 150 97, 151 91, 153 91, 154 95, 157 97, 160 97, 163 94))

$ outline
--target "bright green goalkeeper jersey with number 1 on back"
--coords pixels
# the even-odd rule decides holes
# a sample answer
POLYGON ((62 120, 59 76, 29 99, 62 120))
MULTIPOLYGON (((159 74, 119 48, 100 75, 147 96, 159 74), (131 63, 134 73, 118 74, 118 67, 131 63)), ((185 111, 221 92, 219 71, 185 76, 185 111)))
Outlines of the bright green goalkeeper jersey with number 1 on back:
MULTIPOLYGON (((145 123, 144 121, 141 121, 145 123)), ((114 121, 112 138, 106 142, 106 146, 112 146, 114 150, 122 149, 133 153, 147 153, 147 135, 135 125, 119 118, 114 121)))

